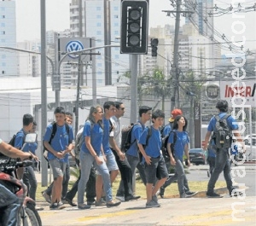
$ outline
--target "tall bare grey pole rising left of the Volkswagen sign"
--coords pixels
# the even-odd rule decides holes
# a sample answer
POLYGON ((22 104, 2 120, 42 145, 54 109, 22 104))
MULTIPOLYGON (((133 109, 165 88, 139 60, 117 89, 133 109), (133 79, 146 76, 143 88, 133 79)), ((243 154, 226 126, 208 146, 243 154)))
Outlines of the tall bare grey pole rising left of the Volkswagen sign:
MULTIPOLYGON (((47 79, 46 79, 46 26, 45 26, 45 0, 41 0, 41 142, 43 145, 43 137, 47 126, 47 79)), ((44 159, 44 153, 41 152, 41 167, 42 167, 42 186, 48 185, 48 165, 44 159)))

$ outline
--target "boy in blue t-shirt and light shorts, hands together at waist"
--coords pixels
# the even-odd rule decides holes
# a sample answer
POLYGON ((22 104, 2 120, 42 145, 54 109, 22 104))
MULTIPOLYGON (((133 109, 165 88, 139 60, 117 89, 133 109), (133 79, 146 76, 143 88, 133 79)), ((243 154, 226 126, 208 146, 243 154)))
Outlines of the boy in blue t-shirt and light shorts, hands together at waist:
POLYGON ((50 144, 49 140, 53 130, 53 125, 50 124, 46 128, 44 134, 44 147, 48 150, 49 165, 53 171, 54 183, 52 188, 50 210, 61 209, 61 192, 63 176, 66 171, 65 155, 70 153, 73 148, 73 128, 69 126, 67 133, 65 119, 66 113, 63 107, 55 108, 55 123, 56 132, 50 144))

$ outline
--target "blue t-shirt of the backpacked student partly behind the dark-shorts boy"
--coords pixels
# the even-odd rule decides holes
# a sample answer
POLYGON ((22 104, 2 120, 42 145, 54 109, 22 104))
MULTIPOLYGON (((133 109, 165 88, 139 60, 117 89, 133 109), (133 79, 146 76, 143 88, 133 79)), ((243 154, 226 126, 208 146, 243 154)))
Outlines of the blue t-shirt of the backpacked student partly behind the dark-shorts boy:
POLYGON ((140 140, 140 137, 145 129, 145 125, 141 124, 139 121, 136 125, 133 126, 131 130, 131 147, 127 150, 126 154, 129 154, 134 157, 138 157, 138 147, 137 141, 140 140), (137 140, 137 141, 135 141, 137 140))

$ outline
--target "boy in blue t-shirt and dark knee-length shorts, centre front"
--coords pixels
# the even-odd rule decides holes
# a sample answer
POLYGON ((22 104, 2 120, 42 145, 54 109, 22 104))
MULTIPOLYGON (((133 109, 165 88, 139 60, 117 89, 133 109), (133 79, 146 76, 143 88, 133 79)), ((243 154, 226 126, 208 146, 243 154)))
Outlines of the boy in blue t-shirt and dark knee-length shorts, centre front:
POLYGON ((153 125, 150 129, 147 127, 145 130, 143 130, 143 134, 138 142, 139 150, 143 154, 143 163, 145 165, 145 173, 147 179, 146 208, 160 206, 155 194, 158 189, 166 182, 168 177, 166 162, 160 151, 162 145, 160 137, 160 126, 163 125, 164 119, 165 113, 163 113, 161 110, 155 110, 154 113, 152 113, 153 125), (152 134, 148 137, 149 130, 151 130, 152 134), (143 145, 146 146, 143 148, 143 145), (156 183, 155 177, 158 179, 156 183))

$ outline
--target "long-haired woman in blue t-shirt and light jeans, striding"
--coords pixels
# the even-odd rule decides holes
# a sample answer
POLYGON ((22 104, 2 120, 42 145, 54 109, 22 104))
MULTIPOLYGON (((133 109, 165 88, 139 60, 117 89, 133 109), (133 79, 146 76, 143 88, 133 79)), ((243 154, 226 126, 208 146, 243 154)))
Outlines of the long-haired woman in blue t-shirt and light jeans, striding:
POLYGON ((102 148, 103 109, 100 106, 90 107, 90 113, 84 124, 84 142, 82 143, 79 154, 81 176, 78 188, 78 207, 79 209, 88 209, 90 206, 84 204, 84 190, 89 180, 91 165, 101 174, 103 188, 106 194, 107 206, 119 206, 120 202, 113 201, 112 188, 108 166, 105 161, 102 148))

